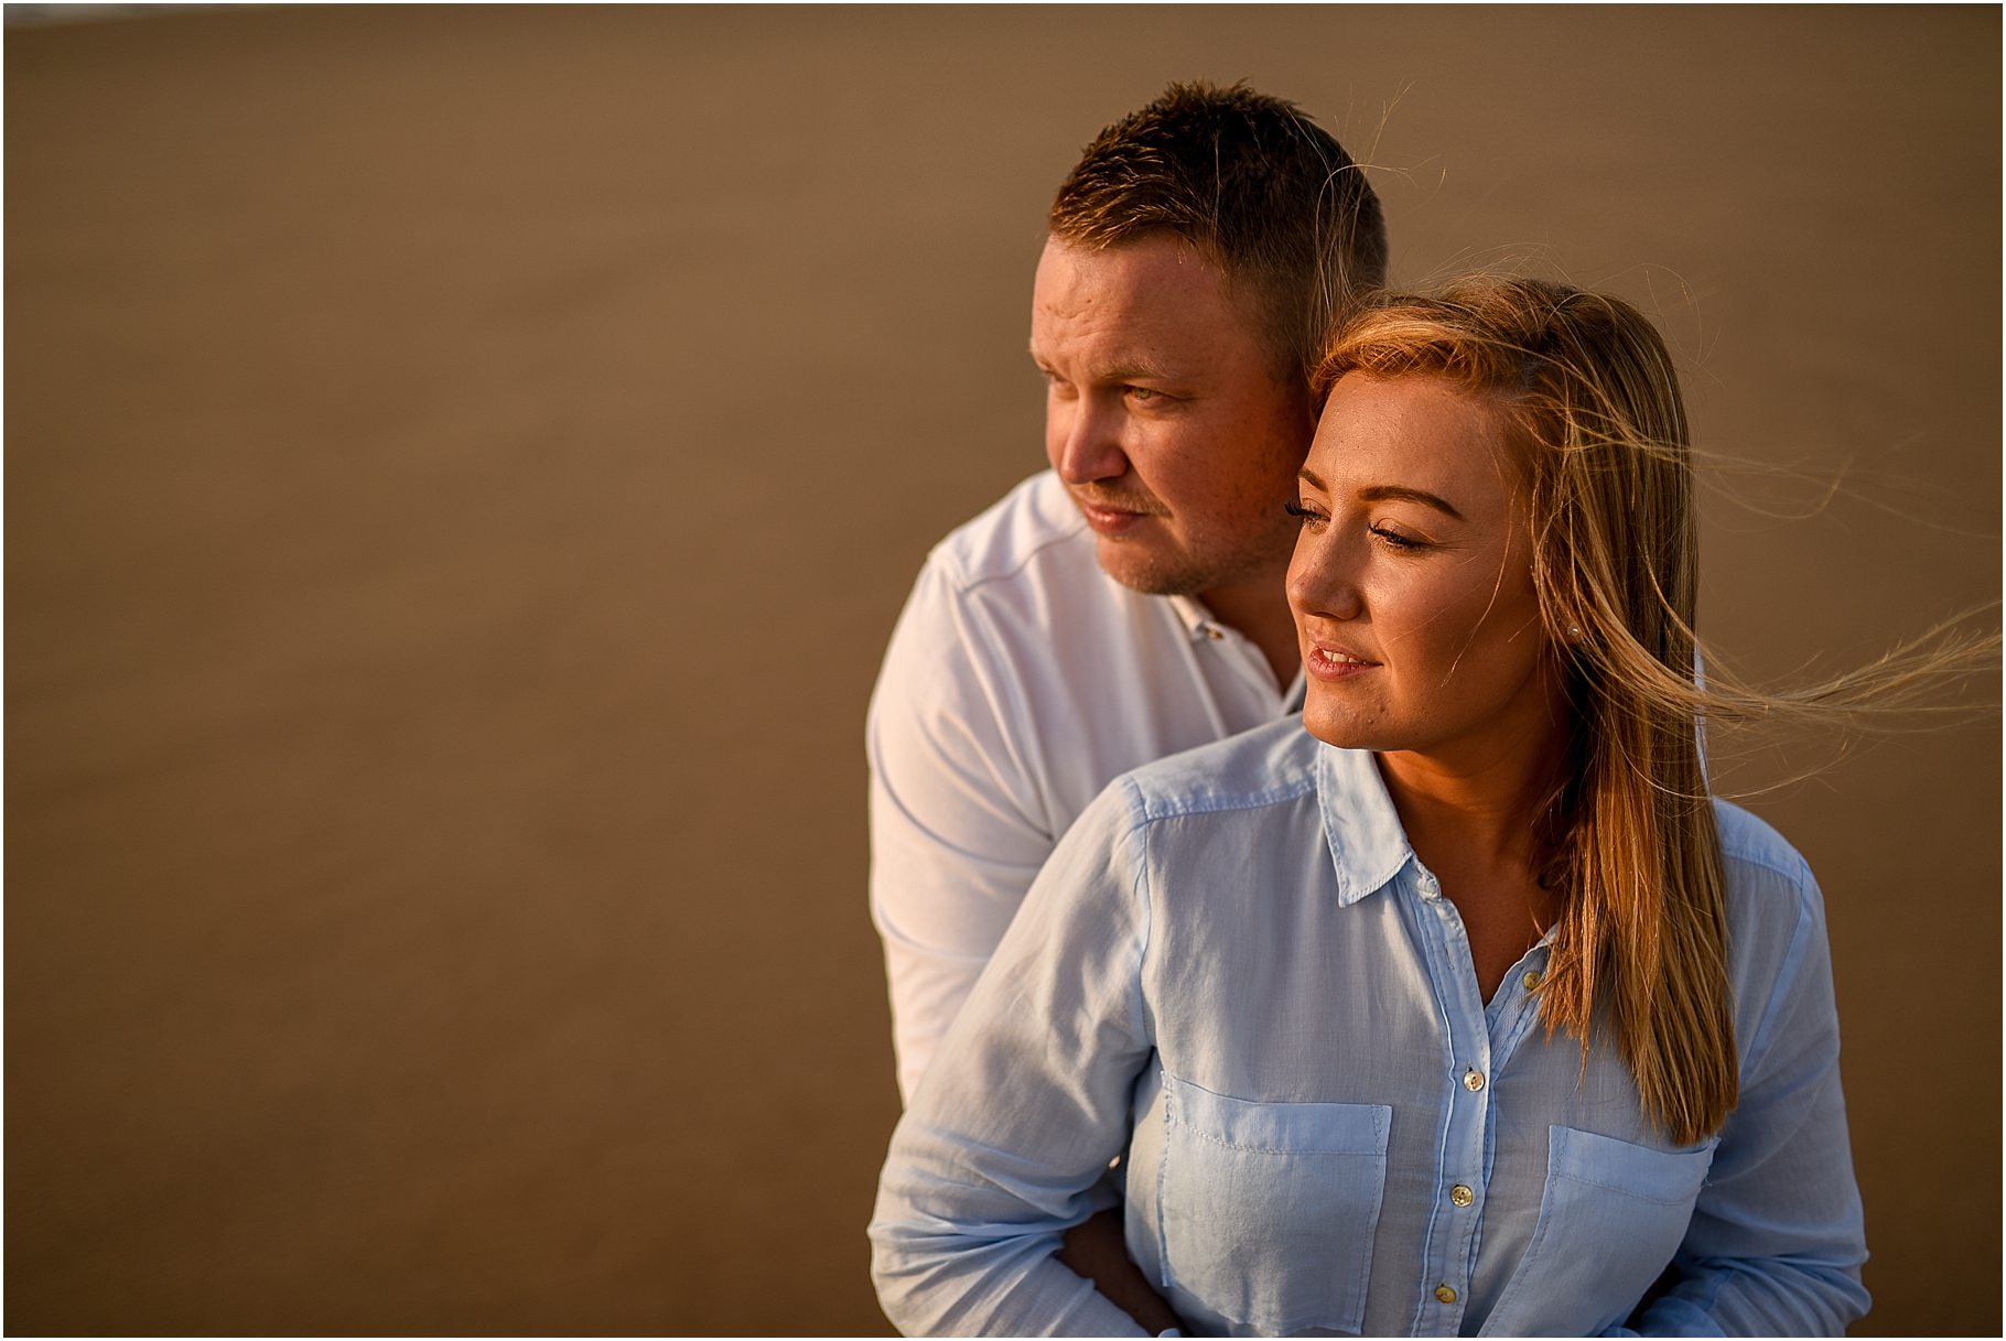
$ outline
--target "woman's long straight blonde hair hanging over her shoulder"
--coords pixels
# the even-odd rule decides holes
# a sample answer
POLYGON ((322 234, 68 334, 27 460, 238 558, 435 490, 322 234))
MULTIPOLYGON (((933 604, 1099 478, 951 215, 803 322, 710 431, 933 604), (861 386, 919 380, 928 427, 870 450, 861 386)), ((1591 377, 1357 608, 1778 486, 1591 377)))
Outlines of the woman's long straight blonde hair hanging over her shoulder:
POLYGON ((1597 1020, 1673 1141, 1735 1104, 1719 832, 1697 722, 1697 523, 1671 357, 1627 303, 1533 279, 1386 295, 1328 345, 1346 373, 1446 377, 1494 401, 1517 449, 1533 581, 1569 700, 1573 768, 1545 814, 1563 896, 1539 986, 1547 1034, 1597 1020))

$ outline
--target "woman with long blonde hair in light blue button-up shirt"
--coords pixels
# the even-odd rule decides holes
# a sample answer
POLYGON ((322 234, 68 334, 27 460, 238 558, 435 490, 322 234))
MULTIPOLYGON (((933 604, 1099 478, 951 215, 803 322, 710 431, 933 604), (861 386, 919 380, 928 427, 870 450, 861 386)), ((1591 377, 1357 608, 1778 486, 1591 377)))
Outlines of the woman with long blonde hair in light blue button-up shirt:
POLYGON ((1117 780, 893 1139, 913 1333, 1133 1335, 1053 1259, 1123 1157, 1194 1333, 1837 1333, 1866 1311, 1823 912, 1705 796, 1663 343, 1535 281, 1336 339, 1302 722, 1117 780))

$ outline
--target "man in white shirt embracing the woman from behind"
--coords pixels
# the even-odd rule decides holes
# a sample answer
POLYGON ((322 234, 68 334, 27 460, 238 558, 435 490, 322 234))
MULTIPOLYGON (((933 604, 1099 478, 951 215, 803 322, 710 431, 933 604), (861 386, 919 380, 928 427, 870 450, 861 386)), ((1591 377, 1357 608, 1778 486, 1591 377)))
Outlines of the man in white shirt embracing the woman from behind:
MULTIPOLYGON (((907 1098, 1107 782, 1300 708, 1282 577, 1308 371, 1386 271, 1358 166, 1244 86, 1174 84, 1103 130, 1047 222, 1031 359, 1051 471, 927 557, 871 700, 871 910, 907 1098)), ((1174 1321, 1113 1217, 1065 1261, 1174 1321)))

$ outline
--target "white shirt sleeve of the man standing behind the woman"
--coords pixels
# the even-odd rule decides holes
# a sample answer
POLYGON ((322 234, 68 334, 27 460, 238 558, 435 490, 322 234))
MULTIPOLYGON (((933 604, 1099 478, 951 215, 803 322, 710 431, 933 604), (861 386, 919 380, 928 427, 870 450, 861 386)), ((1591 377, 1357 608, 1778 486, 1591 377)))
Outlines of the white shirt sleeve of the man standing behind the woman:
POLYGON ((981 615, 931 557, 865 728, 871 920, 907 1100, 1055 842, 1023 690, 981 615))

